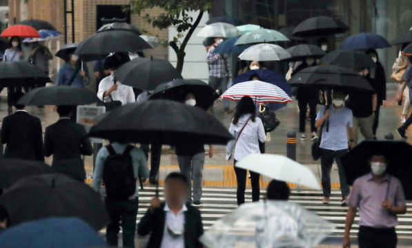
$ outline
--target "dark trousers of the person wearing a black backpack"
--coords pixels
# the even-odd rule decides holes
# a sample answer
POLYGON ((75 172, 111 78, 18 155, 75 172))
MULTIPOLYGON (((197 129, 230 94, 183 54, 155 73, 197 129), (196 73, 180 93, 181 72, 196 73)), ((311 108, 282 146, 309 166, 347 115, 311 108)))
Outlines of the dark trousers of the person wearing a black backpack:
POLYGON ((135 247, 136 218, 139 209, 139 198, 135 200, 112 200, 106 198, 106 210, 110 218, 107 225, 106 242, 117 247, 119 238, 119 223, 123 231, 123 247, 135 247))

